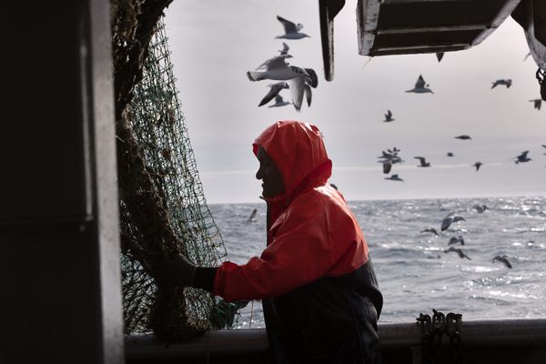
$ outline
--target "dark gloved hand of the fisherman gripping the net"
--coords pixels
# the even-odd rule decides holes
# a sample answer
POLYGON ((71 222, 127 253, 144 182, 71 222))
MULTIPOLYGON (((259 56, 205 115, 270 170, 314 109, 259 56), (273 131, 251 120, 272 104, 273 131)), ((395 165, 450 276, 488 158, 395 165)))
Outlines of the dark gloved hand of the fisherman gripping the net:
POLYGON ((181 254, 173 258, 162 258, 157 265, 157 280, 159 284, 168 287, 191 287, 196 275, 193 263, 181 254))

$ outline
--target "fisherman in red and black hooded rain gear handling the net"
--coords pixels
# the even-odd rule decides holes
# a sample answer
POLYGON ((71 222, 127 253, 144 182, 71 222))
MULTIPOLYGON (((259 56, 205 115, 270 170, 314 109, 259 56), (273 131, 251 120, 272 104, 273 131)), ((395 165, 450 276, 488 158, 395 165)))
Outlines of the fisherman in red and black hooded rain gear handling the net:
POLYGON ((238 265, 166 264, 171 284, 227 301, 262 299, 278 363, 379 363, 383 304, 368 244, 328 179, 332 163, 317 126, 278 121, 254 141, 268 204, 267 247, 238 265))

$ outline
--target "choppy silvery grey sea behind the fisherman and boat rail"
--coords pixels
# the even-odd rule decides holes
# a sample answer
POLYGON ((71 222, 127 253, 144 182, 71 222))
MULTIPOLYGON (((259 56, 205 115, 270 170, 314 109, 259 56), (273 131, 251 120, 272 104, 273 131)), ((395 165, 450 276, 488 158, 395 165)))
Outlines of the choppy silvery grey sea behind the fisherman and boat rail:
MULTIPOLYGON (((415 322, 432 308, 463 320, 546 318, 546 197, 368 200, 349 201, 349 207, 383 294, 379 322, 415 322), (487 208, 479 212, 476 205, 487 208), (464 220, 440 231, 450 213, 464 220), (421 232, 430 227, 440 236, 421 232), (464 245, 449 244, 459 236, 464 245), (445 252, 450 247, 468 258, 445 252), (493 261, 503 255, 511 268, 493 261)), ((209 208, 229 260, 244 264, 259 256, 266 246, 265 203, 209 208)), ((241 309, 238 329, 264 327, 260 301, 241 309)))

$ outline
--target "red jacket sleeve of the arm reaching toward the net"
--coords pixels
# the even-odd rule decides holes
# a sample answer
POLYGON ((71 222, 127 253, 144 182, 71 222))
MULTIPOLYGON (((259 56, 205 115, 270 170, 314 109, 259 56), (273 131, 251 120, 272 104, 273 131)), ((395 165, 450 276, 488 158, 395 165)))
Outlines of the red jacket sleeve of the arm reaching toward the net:
POLYGON ((350 235, 334 239, 336 230, 348 227, 339 225, 339 212, 306 207, 288 212, 259 258, 243 265, 223 263, 213 293, 228 301, 277 297, 327 275, 339 260, 360 253, 359 242, 350 235), (330 228, 332 224, 339 228, 330 228))

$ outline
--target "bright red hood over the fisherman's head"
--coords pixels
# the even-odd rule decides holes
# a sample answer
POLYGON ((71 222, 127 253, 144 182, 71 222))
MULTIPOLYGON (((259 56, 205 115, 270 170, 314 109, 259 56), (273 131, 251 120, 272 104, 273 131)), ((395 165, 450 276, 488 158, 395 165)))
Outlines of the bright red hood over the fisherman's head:
MULTIPOLYGON (((306 187, 326 183, 332 163, 317 126, 288 120, 268 126, 252 144, 254 154, 263 147, 282 176, 285 193, 296 197, 306 187)), ((278 198, 275 197, 275 198, 278 198)))

